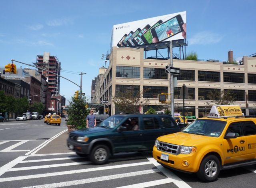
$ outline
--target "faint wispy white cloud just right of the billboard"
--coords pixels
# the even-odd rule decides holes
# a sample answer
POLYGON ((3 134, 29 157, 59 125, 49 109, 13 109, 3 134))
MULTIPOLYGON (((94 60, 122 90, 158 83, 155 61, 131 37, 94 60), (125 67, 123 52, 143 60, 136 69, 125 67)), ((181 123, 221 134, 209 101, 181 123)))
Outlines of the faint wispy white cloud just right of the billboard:
POLYGON ((213 32, 200 32, 188 40, 189 44, 216 44, 222 40, 222 36, 213 32))

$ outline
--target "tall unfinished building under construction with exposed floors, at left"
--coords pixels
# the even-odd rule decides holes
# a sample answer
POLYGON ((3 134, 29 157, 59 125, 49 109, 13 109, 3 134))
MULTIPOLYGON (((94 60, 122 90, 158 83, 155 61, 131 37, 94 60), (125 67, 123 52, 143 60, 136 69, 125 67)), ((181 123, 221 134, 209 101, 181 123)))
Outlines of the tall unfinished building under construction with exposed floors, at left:
POLYGON ((44 52, 44 55, 37 55, 36 63, 38 72, 47 78, 48 90, 52 96, 60 94, 60 62, 56 56, 50 56, 50 52, 44 52))

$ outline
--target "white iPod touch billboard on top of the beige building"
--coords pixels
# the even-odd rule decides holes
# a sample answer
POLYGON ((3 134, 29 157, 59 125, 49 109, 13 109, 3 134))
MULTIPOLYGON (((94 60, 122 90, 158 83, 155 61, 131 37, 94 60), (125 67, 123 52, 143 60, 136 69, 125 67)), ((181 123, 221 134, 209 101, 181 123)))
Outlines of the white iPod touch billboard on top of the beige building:
POLYGON ((114 25, 111 49, 186 38, 186 12, 114 25))

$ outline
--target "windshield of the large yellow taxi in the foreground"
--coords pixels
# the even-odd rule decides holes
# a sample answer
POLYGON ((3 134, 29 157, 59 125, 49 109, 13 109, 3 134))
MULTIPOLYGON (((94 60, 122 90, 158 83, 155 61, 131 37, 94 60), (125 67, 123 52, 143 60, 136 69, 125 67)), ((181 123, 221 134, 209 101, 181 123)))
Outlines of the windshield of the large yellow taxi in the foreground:
POLYGON ((182 132, 218 137, 222 133, 225 126, 226 121, 197 119, 184 128, 182 132))

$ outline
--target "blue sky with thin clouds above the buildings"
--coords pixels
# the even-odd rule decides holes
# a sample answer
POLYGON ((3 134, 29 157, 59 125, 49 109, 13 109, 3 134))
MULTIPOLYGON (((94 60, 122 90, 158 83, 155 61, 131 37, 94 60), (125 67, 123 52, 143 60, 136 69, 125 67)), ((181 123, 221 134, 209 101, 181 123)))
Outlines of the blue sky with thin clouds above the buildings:
POLYGON ((232 50, 241 60, 256 53, 255 7, 255 0, 0 0, 0 67, 12 59, 33 65, 37 55, 50 52, 61 62, 60 75, 75 83, 60 78, 66 103, 80 90, 81 73, 90 99, 114 25, 186 11, 186 54, 227 61, 232 50))

